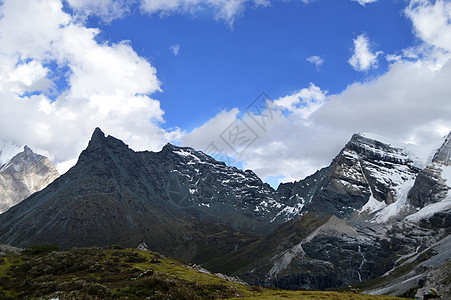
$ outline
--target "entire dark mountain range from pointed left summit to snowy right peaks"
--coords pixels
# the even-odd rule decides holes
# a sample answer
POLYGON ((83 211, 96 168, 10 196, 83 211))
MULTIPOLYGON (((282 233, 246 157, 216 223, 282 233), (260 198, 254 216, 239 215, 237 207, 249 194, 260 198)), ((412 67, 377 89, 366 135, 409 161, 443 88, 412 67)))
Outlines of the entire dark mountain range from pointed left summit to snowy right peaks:
POLYGON ((135 152, 96 129, 72 169, 0 215, 0 243, 146 241, 253 284, 407 295, 449 270, 449 144, 427 162, 355 134, 329 166, 274 190, 192 148, 135 152))

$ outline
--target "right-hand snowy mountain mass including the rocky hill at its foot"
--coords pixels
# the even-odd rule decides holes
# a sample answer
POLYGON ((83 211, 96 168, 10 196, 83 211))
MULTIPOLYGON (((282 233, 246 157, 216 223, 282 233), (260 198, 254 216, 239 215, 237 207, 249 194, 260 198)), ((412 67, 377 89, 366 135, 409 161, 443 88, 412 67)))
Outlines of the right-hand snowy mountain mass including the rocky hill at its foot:
POLYGON ((288 289, 359 283, 413 297, 440 286, 451 296, 449 277, 438 275, 451 274, 450 136, 420 169, 407 147, 354 135, 331 165, 279 187, 296 217, 235 254, 247 264, 230 273, 288 289))

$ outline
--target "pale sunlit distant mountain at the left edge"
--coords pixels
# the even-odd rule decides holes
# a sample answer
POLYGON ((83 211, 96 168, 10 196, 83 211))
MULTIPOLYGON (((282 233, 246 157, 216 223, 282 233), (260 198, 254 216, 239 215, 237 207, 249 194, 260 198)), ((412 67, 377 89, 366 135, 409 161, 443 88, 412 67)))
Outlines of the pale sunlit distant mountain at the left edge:
POLYGON ((45 188, 59 174, 48 158, 11 143, 0 151, 0 213, 45 188))

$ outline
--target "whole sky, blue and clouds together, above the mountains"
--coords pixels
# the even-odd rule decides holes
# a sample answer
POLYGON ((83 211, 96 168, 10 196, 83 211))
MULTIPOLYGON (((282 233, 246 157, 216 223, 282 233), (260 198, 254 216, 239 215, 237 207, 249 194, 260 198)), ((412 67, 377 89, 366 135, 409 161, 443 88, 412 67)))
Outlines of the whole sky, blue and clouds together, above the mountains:
POLYGON ((0 142, 61 172, 95 127, 135 150, 215 143, 273 186, 356 132, 431 149, 451 129, 450 24, 443 0, 3 0, 0 142), (248 144, 225 139, 238 126, 248 144))

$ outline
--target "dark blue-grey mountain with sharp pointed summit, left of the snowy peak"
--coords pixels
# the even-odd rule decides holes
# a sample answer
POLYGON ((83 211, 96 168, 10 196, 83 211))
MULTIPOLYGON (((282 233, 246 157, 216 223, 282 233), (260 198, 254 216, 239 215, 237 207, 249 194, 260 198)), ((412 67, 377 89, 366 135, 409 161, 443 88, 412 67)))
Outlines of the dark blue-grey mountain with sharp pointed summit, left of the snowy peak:
POLYGON ((145 240, 165 254, 204 259, 273 230, 269 220, 282 206, 275 198, 252 171, 170 144, 134 152, 96 129, 72 169, 0 215, 0 240, 62 248, 145 240))

